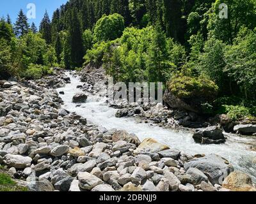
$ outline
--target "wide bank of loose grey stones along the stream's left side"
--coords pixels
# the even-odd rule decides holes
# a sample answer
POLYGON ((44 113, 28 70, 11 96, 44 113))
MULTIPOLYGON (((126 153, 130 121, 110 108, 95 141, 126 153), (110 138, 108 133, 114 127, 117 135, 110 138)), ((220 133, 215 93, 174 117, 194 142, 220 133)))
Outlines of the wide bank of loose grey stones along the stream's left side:
POLYGON ((68 82, 63 71, 0 82, 0 164, 30 191, 255 190, 248 175, 216 154, 192 156, 152 138, 140 141, 64 110, 55 89, 68 82))

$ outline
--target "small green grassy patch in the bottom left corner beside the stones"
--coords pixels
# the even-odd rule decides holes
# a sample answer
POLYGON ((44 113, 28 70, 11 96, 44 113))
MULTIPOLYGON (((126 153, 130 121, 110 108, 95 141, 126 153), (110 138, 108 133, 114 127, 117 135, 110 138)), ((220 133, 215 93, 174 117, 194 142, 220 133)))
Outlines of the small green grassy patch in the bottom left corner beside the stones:
POLYGON ((28 188, 18 186, 10 175, 0 173, 0 191, 28 191, 28 188))

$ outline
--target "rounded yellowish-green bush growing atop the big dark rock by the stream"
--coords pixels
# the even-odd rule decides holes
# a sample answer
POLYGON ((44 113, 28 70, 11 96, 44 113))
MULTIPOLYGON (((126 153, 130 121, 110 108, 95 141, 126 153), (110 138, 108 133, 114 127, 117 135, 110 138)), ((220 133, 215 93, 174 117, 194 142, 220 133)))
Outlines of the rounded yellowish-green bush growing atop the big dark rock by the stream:
POLYGON ((218 94, 218 86, 204 76, 175 76, 168 83, 168 90, 178 98, 205 98, 209 101, 218 94))

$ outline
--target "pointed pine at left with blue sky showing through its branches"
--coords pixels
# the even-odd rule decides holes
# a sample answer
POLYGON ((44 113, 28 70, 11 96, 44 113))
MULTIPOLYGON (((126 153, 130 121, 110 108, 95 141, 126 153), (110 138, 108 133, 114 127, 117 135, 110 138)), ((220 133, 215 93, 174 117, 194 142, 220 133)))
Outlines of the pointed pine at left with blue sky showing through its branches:
POLYGON ((24 34, 28 33, 29 24, 28 18, 24 15, 23 11, 20 10, 18 18, 14 25, 14 33, 16 36, 23 36, 24 34))

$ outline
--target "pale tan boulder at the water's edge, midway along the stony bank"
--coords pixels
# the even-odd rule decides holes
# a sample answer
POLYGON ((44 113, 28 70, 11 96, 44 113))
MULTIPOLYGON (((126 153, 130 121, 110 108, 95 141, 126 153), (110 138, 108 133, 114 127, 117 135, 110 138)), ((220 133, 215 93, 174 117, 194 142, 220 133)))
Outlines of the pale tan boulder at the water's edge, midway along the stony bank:
POLYGON ((163 145, 152 138, 146 138, 138 146, 138 149, 157 153, 170 148, 167 145, 163 145))

